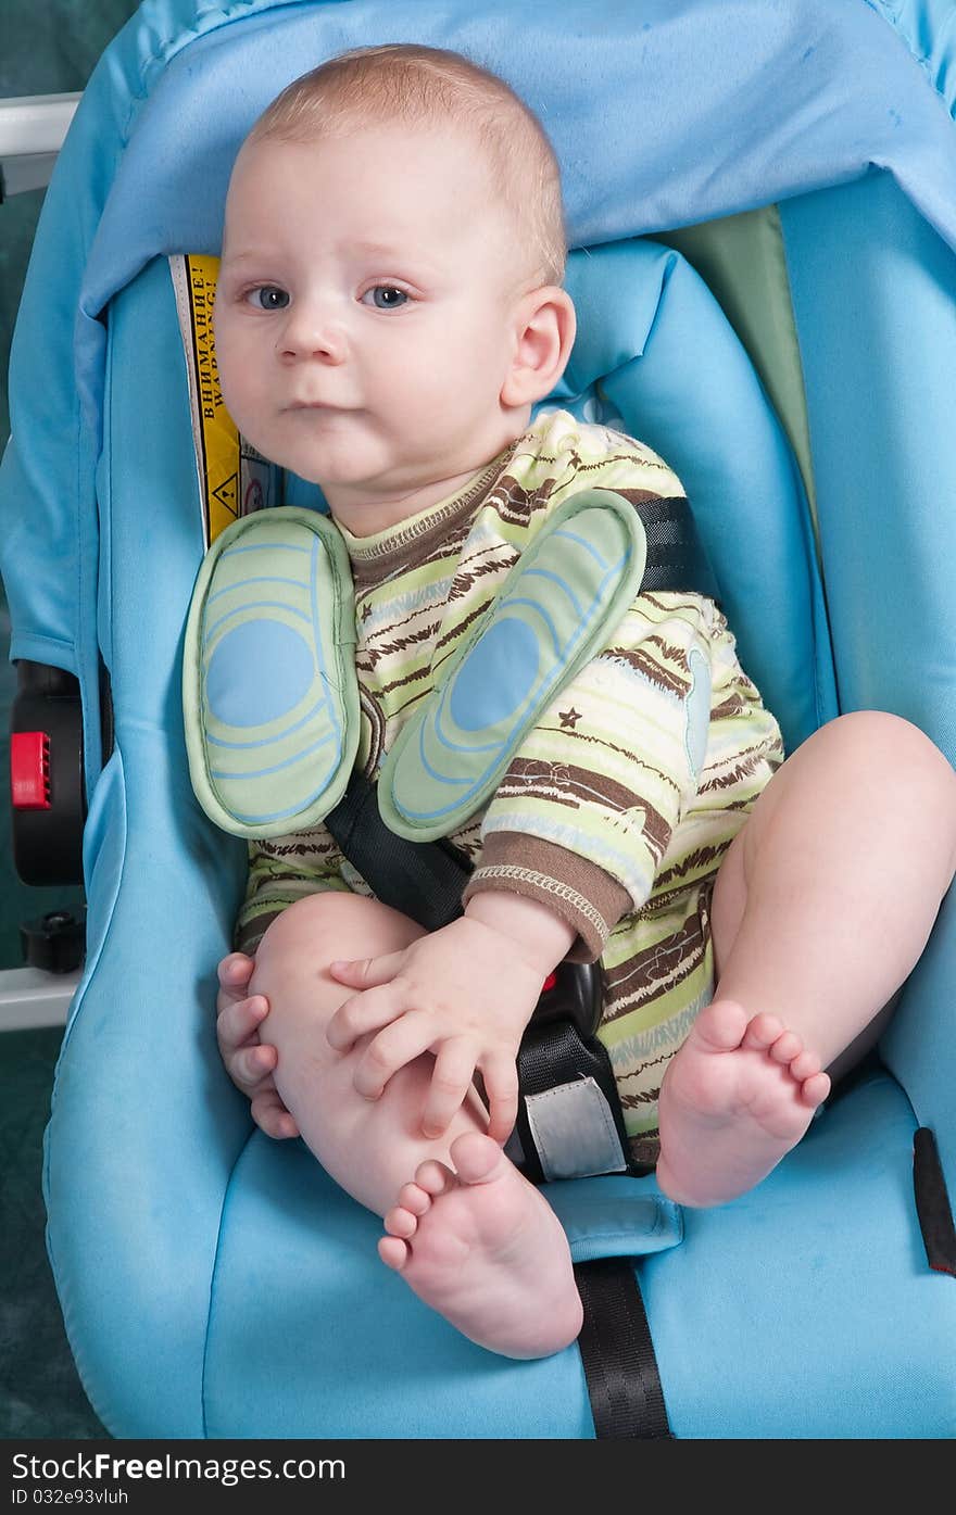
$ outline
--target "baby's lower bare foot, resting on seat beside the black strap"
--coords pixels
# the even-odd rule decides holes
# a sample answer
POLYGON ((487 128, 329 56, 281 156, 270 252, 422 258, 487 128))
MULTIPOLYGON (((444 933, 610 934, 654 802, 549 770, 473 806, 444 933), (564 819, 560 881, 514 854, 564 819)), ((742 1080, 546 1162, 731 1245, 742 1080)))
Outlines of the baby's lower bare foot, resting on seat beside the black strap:
POLYGON ((451 1142, 451 1173, 423 1162, 385 1217, 379 1256, 465 1336, 506 1357, 547 1357, 580 1332, 571 1253, 550 1204, 497 1142, 451 1142))

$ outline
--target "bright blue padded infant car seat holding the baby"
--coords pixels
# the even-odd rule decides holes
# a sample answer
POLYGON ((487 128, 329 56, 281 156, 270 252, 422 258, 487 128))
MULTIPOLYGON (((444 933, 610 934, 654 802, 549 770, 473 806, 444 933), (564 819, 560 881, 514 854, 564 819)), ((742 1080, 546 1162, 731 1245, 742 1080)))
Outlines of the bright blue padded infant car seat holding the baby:
MULTIPOLYGON (((205 541, 173 273, 218 253, 238 144, 291 77, 423 41, 529 100, 562 162, 580 323, 547 403, 674 467, 789 750, 877 708, 956 756, 951 9, 585 15, 586 35, 574 0, 147 0, 47 194, 0 539, 12 658, 82 697, 88 951, 44 1189, 68 1339, 117 1436, 595 1435, 577 1347, 512 1362, 459 1336, 380 1265, 377 1218, 253 1127, 217 1056, 245 847, 186 768, 205 541)), ((680 1212, 653 1177, 550 1186, 576 1259, 639 1279, 674 1436, 956 1432, 956 1288, 936 1271, 953 1267, 954 909, 879 1057, 756 1191, 680 1212)))

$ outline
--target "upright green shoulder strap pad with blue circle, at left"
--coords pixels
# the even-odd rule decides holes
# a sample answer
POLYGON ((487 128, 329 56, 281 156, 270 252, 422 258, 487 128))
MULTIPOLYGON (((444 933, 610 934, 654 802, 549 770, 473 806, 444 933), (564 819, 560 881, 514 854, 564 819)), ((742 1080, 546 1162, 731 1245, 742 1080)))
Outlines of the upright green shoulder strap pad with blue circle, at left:
POLYGON ((183 651, 189 777, 235 836, 317 826, 359 742, 351 567, 333 523, 280 506, 206 554, 183 651))

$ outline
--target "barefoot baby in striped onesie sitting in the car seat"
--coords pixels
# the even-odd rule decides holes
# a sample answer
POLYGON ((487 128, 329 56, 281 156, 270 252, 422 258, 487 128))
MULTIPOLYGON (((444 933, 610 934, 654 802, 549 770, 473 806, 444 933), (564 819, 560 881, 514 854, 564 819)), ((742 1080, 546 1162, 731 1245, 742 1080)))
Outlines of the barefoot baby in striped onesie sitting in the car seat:
MULTIPOLYGON (((532 423, 574 341, 564 262, 539 123, 453 53, 333 59, 238 156, 223 394, 341 530, 365 773, 556 504, 682 494, 618 432, 532 423)), ((953 877, 956 777, 879 712, 783 762, 715 604, 655 591, 451 841, 474 873, 464 915, 430 933, 323 827, 253 844, 218 1042, 262 1130, 301 1133, 383 1217, 380 1256, 421 1298, 492 1351, 545 1356, 582 1306, 545 1191, 501 1148, 547 974, 601 961, 633 1156, 682 1204, 727 1201, 874 1042, 953 877)))

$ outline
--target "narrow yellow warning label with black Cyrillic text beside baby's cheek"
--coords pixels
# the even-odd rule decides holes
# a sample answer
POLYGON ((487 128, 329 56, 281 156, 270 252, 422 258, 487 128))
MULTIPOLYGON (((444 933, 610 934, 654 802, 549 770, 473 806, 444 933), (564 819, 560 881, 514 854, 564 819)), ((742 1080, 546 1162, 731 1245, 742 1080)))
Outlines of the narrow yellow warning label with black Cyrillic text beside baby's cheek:
POLYGON ((205 480, 208 539, 211 542, 239 515, 239 433, 223 403, 220 373, 215 364, 212 311, 218 258, 189 253, 186 288, 192 323, 192 361, 195 365, 195 398, 198 421, 197 450, 205 480))

